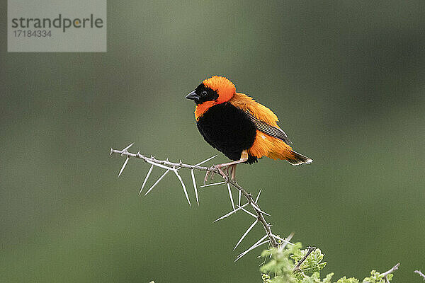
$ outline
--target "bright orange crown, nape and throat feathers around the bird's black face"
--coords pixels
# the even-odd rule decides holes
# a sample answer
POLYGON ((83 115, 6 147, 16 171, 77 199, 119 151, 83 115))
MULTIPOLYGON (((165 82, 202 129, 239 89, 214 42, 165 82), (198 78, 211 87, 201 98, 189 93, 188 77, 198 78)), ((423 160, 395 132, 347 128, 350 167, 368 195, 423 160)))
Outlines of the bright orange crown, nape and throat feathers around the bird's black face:
POLYGON ((200 115, 203 115, 211 106, 229 101, 234 96, 234 93, 236 93, 236 87, 232 81, 229 81, 224 76, 212 76, 210 79, 203 80, 202 83, 206 87, 211 88, 212 91, 215 91, 218 94, 218 98, 198 104, 195 110, 196 119, 200 115))

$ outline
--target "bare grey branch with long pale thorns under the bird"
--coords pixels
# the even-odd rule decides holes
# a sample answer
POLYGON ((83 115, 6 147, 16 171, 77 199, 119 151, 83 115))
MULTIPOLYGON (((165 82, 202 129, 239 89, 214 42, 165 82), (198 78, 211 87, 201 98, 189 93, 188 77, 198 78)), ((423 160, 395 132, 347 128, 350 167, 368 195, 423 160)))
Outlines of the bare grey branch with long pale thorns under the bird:
MULTIPOLYGON (((166 171, 162 174, 162 176, 154 183, 154 185, 152 185, 152 187, 149 188, 149 190, 147 190, 147 192, 145 193, 145 195, 147 195, 164 177, 167 173, 169 173, 169 171, 173 171, 174 174, 176 175, 176 177, 179 179, 181 186, 183 187, 183 192, 186 196, 186 200, 188 201, 188 204, 191 205, 191 201, 189 200, 188 197, 188 193, 186 190, 186 185, 183 182, 183 179, 181 178, 181 176, 179 175, 179 169, 181 168, 185 168, 185 169, 189 169, 191 170, 191 178, 193 181, 193 188, 195 190, 195 195, 196 195, 196 202, 199 205, 199 199, 198 199, 198 188, 196 187, 196 180, 195 180, 195 175, 193 174, 194 170, 197 171, 206 171, 208 173, 211 174, 217 174, 220 175, 225 181, 223 182, 218 182, 218 183, 213 183, 213 184, 208 184, 208 185, 203 185, 201 187, 207 187, 207 186, 212 186, 212 185, 222 185, 225 184, 227 185, 228 191, 229 191, 229 197, 230 200, 232 202, 232 211, 225 214, 224 216, 221 216, 219 219, 215 220, 215 221, 219 221, 221 219, 226 218, 227 216, 230 216, 232 214, 234 214, 235 212, 245 212, 246 214, 249 214, 251 216, 254 216, 256 218, 256 220, 254 221, 253 224, 251 224, 251 226, 249 226, 249 228, 246 230, 246 232, 242 235, 242 238, 239 239, 238 243, 236 244, 236 246, 234 247, 237 248, 237 246, 239 245, 239 243, 242 242, 242 240, 244 239, 244 237, 249 233, 249 231, 251 231, 251 229, 258 223, 260 222, 261 225, 263 226, 264 231, 266 232, 266 235, 263 236, 263 238, 261 238, 259 241, 257 241, 256 243, 254 243, 253 246, 251 246, 251 248, 249 248, 248 250, 245 250, 244 253, 241 253, 236 260, 239 260, 239 258, 242 258, 242 256, 244 256, 246 253, 248 253, 250 250, 253 250, 254 248, 257 248, 261 245, 263 245, 264 243, 269 243, 271 246, 277 248, 278 246, 282 245, 293 245, 293 243, 290 243, 289 239, 285 239, 285 238, 280 238, 279 236, 276 236, 275 234, 273 234, 273 232, 271 231, 271 224, 269 224, 266 219, 264 218, 265 215, 270 216, 270 214, 267 214, 266 212, 264 212, 259 204, 258 204, 258 200, 260 197, 260 193, 261 190, 259 192, 259 195, 257 195, 256 199, 254 200, 254 197, 249 193, 246 192, 246 190, 244 190, 244 188, 242 186, 240 186, 235 180, 231 180, 227 175, 222 175, 222 173, 220 173, 220 171, 217 170, 217 168, 215 168, 215 166, 210 166, 210 167, 206 167, 206 166, 202 166, 203 163, 206 163, 208 161, 210 161, 212 158, 214 158, 215 156, 212 156, 211 158, 206 159, 205 161, 202 161, 196 165, 191 165, 191 164, 186 164, 183 163, 182 161, 179 161, 179 163, 176 162, 171 162, 168 159, 166 160, 158 160, 156 159, 154 156, 145 156, 143 154, 140 154, 140 151, 137 152, 137 154, 133 154, 131 152, 128 151, 128 149, 130 149, 130 147, 133 144, 130 144, 129 146, 125 147, 125 149, 122 150, 117 150, 117 149, 111 149, 111 155, 112 154, 120 154, 121 156, 126 156, 123 167, 120 170, 120 173, 118 174, 118 177, 120 177, 121 173, 123 173, 125 166, 127 166, 128 161, 130 158, 140 158, 143 161, 151 164, 151 167, 149 168, 149 171, 146 175, 145 180, 143 181, 142 187, 140 187, 140 193, 142 192, 143 188, 145 187, 146 183, 147 183, 147 179, 149 178, 149 176, 152 173, 152 170, 155 167, 159 167, 159 168, 163 168, 166 171), (238 202, 237 204, 234 204, 234 200, 232 197, 232 192, 231 192, 231 187, 235 188, 238 191, 238 202), (245 204, 241 204, 241 196, 244 196, 244 198, 246 199, 246 203, 245 204), (251 207, 254 210, 254 213, 250 212, 249 210, 247 210, 248 207, 251 207)), ((310 252, 311 253, 311 252, 310 252)), ((309 253, 309 254, 310 254, 309 253)), ((308 255, 307 255, 308 256, 308 255)), ((235 260, 235 261, 236 261, 235 260)))

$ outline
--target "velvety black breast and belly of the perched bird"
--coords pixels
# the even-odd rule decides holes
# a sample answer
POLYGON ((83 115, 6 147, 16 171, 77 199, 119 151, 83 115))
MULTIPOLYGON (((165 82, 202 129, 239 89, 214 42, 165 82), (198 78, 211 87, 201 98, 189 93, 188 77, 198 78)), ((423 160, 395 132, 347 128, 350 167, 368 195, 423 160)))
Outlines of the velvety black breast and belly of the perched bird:
MULTIPOLYGON (((205 141, 233 161, 254 144, 256 127, 246 113, 230 103, 214 105, 201 115, 198 130, 205 141)), ((256 162, 249 156, 248 163, 256 162)))

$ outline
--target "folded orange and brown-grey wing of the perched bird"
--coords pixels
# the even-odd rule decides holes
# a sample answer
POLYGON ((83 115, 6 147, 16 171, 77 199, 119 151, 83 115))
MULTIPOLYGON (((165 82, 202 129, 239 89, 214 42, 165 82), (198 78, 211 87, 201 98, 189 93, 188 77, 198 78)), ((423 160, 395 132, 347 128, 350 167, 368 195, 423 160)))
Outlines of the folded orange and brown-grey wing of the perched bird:
POLYGON ((275 137, 285 142, 285 144, 291 144, 288 136, 280 129, 278 124, 278 117, 266 108, 256 102, 253 98, 244 95, 243 93, 235 93, 229 103, 240 108, 246 112, 249 119, 254 122, 256 129, 264 134, 268 134, 271 137, 275 137))

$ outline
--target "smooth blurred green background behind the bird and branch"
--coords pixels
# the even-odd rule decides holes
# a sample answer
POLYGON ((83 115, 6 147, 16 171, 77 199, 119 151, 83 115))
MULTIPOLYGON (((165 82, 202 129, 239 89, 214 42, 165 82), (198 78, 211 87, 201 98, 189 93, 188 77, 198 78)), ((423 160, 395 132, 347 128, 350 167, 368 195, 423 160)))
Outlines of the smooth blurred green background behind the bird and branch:
POLYGON ((183 99, 215 74, 314 159, 240 166, 273 231, 321 248, 335 279, 401 262, 394 282, 422 281, 424 1, 108 1, 108 52, 46 54, 6 52, 1 6, 1 282, 260 282, 261 249, 233 261, 261 226, 232 251, 251 218, 212 224, 225 187, 188 207, 168 175, 139 197, 149 166, 130 160, 117 180, 124 158, 109 156, 131 142, 216 154, 183 99))

